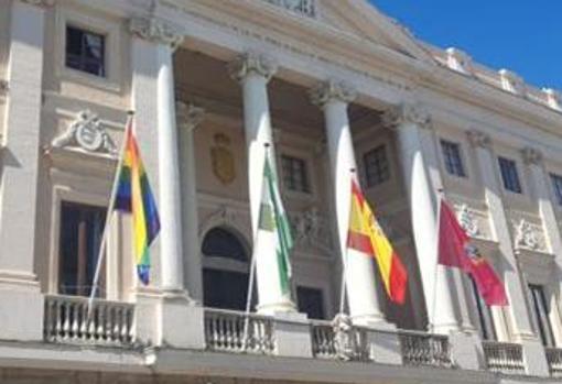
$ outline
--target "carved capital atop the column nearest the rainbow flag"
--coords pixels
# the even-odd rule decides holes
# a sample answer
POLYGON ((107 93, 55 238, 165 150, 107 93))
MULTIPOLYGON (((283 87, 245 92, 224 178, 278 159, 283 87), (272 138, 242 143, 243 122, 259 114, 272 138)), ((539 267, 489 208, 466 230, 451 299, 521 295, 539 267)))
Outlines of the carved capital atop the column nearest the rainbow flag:
POLYGON ((170 45, 175 50, 183 41, 183 34, 173 25, 154 17, 133 17, 129 20, 132 35, 159 44, 170 45))

